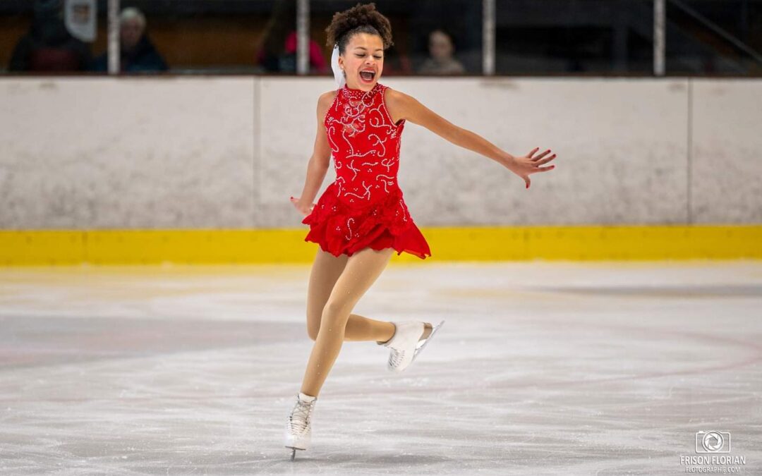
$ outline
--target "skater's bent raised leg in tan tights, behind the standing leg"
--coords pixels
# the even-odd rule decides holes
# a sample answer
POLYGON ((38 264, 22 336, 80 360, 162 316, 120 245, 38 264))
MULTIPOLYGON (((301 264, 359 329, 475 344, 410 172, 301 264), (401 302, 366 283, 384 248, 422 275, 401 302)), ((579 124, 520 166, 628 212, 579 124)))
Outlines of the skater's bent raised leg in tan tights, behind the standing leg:
MULTIPOLYGON (((307 290, 307 334, 312 340, 318 338, 323 308, 331 296, 331 291, 344 271, 349 257, 346 254, 334 256, 318 248, 312 271, 309 275, 307 290)), ((344 340, 376 340, 386 341, 394 334, 394 324, 386 321, 376 321, 357 314, 351 314, 344 330, 344 340)))

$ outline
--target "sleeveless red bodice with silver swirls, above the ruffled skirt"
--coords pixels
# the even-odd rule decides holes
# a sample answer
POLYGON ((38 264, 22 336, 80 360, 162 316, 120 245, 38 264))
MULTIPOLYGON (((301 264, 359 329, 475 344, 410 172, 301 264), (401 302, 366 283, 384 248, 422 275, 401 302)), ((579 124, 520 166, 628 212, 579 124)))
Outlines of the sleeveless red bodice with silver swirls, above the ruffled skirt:
POLYGON ((325 113, 334 159, 334 189, 351 207, 368 206, 399 193, 399 145, 405 120, 392 123, 384 101, 386 86, 370 91, 340 88, 325 113))

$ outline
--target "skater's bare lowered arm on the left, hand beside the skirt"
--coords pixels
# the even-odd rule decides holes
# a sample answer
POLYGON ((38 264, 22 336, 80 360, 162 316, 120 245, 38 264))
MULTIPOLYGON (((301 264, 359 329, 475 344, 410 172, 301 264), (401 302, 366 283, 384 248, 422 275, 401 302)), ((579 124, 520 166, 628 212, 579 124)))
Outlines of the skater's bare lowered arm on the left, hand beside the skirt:
POLYGON ((331 164, 331 147, 328 145, 328 133, 325 131, 323 119, 335 97, 336 91, 328 91, 321 94, 318 98, 318 131, 315 135, 315 146, 312 149, 312 156, 307 163, 307 177, 304 182, 304 190, 302 191, 302 196, 298 199, 293 196, 291 197, 291 203, 305 216, 309 215, 312 211, 312 200, 315 200, 323 179, 325 179, 325 174, 328 172, 328 166, 331 164))

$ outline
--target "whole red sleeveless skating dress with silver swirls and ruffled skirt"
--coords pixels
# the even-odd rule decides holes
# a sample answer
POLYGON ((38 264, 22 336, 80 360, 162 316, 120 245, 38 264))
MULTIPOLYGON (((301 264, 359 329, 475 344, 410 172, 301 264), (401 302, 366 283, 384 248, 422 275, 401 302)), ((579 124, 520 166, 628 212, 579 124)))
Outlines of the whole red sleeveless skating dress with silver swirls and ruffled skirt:
POLYGON ((385 90, 378 82, 370 91, 344 85, 325 113, 336 180, 302 223, 310 228, 304 241, 337 257, 366 247, 431 256, 397 184, 405 120, 392 123, 385 90))

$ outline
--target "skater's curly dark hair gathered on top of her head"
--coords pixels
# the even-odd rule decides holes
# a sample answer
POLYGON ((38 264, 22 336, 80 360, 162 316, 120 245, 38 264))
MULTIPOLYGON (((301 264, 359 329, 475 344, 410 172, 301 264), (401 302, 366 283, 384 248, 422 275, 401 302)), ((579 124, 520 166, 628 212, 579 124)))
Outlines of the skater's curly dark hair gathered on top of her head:
POLYGON ((338 43, 339 53, 344 53, 347 43, 357 33, 378 35, 383 41, 384 50, 394 44, 389 18, 380 14, 373 2, 366 5, 358 3, 352 8, 338 11, 331 18, 331 24, 325 29, 325 33, 328 34, 326 44, 333 48, 338 43))

